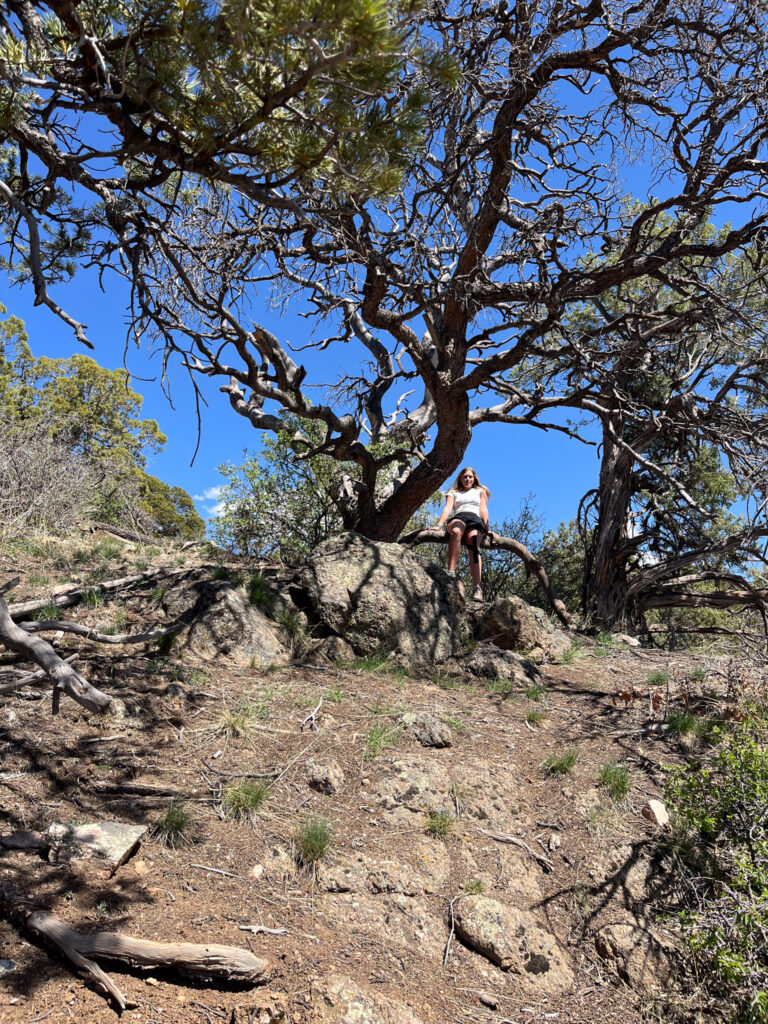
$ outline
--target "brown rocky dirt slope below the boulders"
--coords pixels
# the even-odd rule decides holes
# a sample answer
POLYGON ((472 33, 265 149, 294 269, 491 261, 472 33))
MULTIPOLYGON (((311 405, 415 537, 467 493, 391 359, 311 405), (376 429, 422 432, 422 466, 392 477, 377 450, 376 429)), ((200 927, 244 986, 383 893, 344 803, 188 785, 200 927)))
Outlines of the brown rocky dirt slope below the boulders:
MULTIPOLYGON (((34 592, 22 586, 14 600, 34 592)), ((146 628, 146 594, 67 617, 92 625, 116 608, 125 629, 146 628)), ((585 640, 570 664, 542 667, 538 687, 505 692, 503 682, 441 673, 359 664, 258 670, 161 654, 157 645, 65 640, 80 651, 80 671, 119 708, 98 718, 65 698, 52 717, 44 690, 0 698, 0 835, 43 833, 54 821, 120 820, 150 830, 114 874, 98 860, 51 863, 0 851, 3 1024, 117 1016, 102 992, 18 924, 37 908, 85 932, 250 947, 269 962, 266 988, 284 998, 294 1024, 325 1019, 317 986, 332 974, 406 1004, 424 1024, 633 1024, 664 1014, 670 993, 633 990, 598 955, 594 937, 620 911, 637 913, 638 900, 654 912, 650 881, 638 894, 626 880, 628 865, 656 857, 662 830, 641 808, 659 796, 664 766, 686 753, 687 740, 663 719, 672 706, 723 697, 723 666, 696 673, 692 659, 585 640), (422 746, 403 713, 446 724, 452 745, 422 746), (577 753, 570 771, 548 768, 568 751, 577 753), (599 782, 613 761, 628 766, 631 780, 618 803, 599 782), (310 787, 312 764, 340 772, 336 792, 310 787), (222 801, 242 779, 268 790, 255 813, 237 817, 222 801), (172 799, 189 823, 169 842, 158 826, 172 799), (449 821, 442 838, 430 834, 439 830, 436 810, 449 821), (317 820, 330 846, 302 864, 301 829, 317 820), (421 881, 392 882, 393 864, 421 881), (472 892, 537 914, 570 964, 566 990, 502 971, 452 936, 456 901, 472 892)), ((658 928, 674 944, 672 922, 659 918, 658 928)), ((131 1022, 282 1019, 258 1016, 258 989, 101 966, 133 1004, 124 1014, 131 1022)))

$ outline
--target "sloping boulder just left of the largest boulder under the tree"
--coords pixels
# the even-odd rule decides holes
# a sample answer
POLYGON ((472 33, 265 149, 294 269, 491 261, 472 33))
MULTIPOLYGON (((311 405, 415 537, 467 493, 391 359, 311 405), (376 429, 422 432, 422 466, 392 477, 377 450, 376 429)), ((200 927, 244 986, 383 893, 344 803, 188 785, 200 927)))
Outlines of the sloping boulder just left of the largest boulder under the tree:
POLYGON ((177 643, 201 657, 225 654, 229 662, 259 668, 289 660, 274 624, 228 580, 191 572, 168 587, 161 604, 166 616, 178 624, 177 643))

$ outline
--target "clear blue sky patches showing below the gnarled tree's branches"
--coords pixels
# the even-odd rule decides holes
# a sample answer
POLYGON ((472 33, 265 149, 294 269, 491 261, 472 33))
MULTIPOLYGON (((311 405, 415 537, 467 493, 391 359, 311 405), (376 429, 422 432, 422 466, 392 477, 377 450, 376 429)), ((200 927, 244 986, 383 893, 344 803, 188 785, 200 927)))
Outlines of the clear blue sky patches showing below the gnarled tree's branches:
MULTIPOLYGON (((66 358, 82 352, 111 370, 124 365, 127 290, 116 278, 110 280, 109 290, 102 292, 95 274, 83 271, 70 284, 51 289, 51 295, 71 315, 87 324, 87 335, 95 350, 88 352, 67 325, 46 307, 34 306, 31 289, 11 288, 6 279, 0 279, 0 302, 8 313, 20 316, 27 324, 36 356, 66 358)), ((258 308, 254 309, 254 315, 259 315, 258 308)), ((309 340, 306 321, 290 312, 280 316, 269 310, 266 301, 259 318, 281 340, 294 345, 309 340)), ((307 362, 314 383, 330 383, 344 370, 345 354, 344 348, 336 345, 326 353, 302 353, 301 361, 307 362)), ((245 449, 258 452, 259 433, 231 411, 215 382, 202 379, 199 384, 208 408, 203 410, 196 456, 195 398, 185 371, 179 365, 170 369, 171 406, 159 380, 159 356, 152 357, 132 346, 126 365, 134 375, 134 390, 144 397, 142 416, 157 420, 168 435, 165 451, 152 459, 150 472, 187 490, 195 497, 201 515, 208 517, 222 483, 218 466, 223 462, 241 463, 245 449)), ((548 528, 556 528, 559 522, 575 515, 579 500, 594 485, 598 472, 595 447, 554 431, 545 433, 532 427, 500 424, 486 424, 475 431, 464 463, 473 466, 492 490, 492 522, 500 523, 506 516, 515 515, 520 502, 531 494, 548 528)))

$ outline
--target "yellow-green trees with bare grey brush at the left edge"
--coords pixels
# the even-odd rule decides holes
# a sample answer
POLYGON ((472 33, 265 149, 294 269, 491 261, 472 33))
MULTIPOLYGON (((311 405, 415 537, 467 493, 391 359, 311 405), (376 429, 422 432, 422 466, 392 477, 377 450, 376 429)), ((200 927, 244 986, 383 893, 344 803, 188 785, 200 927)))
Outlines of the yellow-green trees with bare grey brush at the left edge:
POLYGON ((141 419, 143 398, 129 382, 126 370, 105 370, 85 355, 36 358, 24 323, 0 321, 6 527, 67 529, 87 514, 113 523, 128 515, 166 536, 202 536, 205 523, 186 492, 145 471, 166 437, 155 420, 141 419))

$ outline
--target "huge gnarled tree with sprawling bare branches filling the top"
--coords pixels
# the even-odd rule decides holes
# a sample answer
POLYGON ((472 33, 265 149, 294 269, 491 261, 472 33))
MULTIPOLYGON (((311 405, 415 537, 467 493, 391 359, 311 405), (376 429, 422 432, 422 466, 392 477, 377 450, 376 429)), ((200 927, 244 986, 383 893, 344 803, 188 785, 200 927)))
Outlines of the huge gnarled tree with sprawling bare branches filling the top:
MULTIPOLYGON (((759 254, 764 237, 768 15, 749 0, 435 0, 406 29, 403 8, 379 5, 386 74, 361 85, 378 59, 373 29, 360 30, 373 7, 361 22, 351 0, 337 7, 324 20, 311 5, 307 22, 286 5, 279 22, 245 0, 11 0, 0 193, 39 301, 75 249, 95 265, 120 262, 137 335, 221 379, 258 429, 279 433, 288 414, 319 424, 322 441, 305 436, 303 455, 357 467, 341 496, 345 524, 393 540, 475 427, 567 429, 550 417, 560 397, 534 384, 521 401, 514 372, 597 374, 594 332, 615 325, 553 341, 573 310, 648 280, 677 297, 667 312, 637 305, 622 322, 636 344, 611 374, 670 350, 686 318, 718 337, 738 322, 741 292, 761 286, 760 257, 742 262, 740 291, 714 301, 711 270, 728 254, 759 254), (362 123, 339 113, 353 93, 366 97, 368 170, 362 123), (229 101, 237 116, 222 117, 229 101), (73 143, 86 115, 108 141, 73 143), (314 131, 322 154, 305 154, 314 131), (640 161, 655 193, 642 206, 618 180, 640 161), (56 191, 66 181, 72 198, 56 191), (726 205, 733 223, 702 231, 726 205), (309 303, 310 345, 361 353, 324 382, 322 402, 309 400, 297 346, 252 318, 269 282, 285 301, 292 287, 309 303)), ((715 404, 712 438, 750 420, 715 404)), ((689 419, 675 423, 682 431, 689 419)), ((621 478, 629 442, 607 436, 621 478)), ((621 617, 620 604, 598 617, 621 617)))

